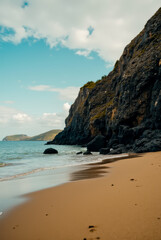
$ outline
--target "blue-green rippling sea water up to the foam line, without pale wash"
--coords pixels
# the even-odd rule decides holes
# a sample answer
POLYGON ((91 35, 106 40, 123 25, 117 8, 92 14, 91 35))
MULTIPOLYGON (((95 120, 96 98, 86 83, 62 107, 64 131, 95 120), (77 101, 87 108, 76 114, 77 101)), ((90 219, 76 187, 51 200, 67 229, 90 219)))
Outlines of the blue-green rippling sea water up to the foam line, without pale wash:
POLYGON ((80 146, 44 144, 44 141, 1 141, 0 182, 35 174, 45 175, 49 170, 98 162, 105 158, 98 153, 77 155, 77 152, 86 150, 80 146), (58 154, 43 154, 49 147, 57 149, 58 154))

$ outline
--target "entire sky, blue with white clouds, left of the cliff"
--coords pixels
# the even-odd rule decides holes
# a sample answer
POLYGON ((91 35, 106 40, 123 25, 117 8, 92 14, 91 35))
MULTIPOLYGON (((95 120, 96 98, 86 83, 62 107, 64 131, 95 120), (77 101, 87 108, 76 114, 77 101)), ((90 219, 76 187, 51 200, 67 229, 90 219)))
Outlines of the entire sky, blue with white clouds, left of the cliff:
POLYGON ((0 140, 63 129, 160 0, 0 0, 0 140))

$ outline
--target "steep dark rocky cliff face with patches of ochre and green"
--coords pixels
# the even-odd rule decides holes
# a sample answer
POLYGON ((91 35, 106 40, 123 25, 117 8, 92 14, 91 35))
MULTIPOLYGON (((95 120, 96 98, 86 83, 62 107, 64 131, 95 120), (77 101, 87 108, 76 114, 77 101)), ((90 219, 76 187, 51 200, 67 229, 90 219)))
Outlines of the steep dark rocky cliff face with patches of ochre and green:
POLYGON ((120 152, 148 151, 149 141, 154 151, 161 146, 161 8, 112 72, 80 89, 54 143, 85 144, 99 134, 120 152))

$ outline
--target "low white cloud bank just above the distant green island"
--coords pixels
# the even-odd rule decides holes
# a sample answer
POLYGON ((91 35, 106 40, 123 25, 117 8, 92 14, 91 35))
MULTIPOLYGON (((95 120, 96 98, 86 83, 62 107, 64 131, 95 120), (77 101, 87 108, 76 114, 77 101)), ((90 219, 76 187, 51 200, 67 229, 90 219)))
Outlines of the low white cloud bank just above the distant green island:
POLYGON ((0 106, 0 139, 13 134, 34 136, 51 129, 63 129, 69 108, 66 102, 59 113, 45 112, 40 116, 31 116, 14 108, 0 106))

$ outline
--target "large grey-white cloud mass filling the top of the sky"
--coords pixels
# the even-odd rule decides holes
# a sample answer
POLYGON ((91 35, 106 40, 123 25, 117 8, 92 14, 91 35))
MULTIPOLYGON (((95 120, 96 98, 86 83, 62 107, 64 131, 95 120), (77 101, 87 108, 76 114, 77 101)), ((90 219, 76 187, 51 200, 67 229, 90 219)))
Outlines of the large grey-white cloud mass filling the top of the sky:
POLYGON ((45 39, 50 47, 62 44, 86 57, 96 51, 113 62, 159 7, 160 0, 32 0, 25 7, 22 0, 0 0, 0 36, 16 44, 45 39))

